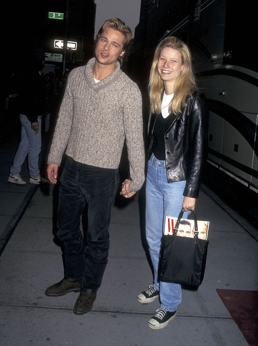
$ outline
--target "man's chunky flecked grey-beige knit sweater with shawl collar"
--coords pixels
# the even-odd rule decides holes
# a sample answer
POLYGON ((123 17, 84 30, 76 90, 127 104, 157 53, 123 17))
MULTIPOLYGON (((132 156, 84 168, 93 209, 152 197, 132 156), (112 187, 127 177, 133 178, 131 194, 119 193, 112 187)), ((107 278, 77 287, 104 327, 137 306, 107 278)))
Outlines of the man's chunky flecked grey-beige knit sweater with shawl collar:
POLYGON ((60 165, 65 151, 77 162, 116 169, 126 138, 130 189, 137 191, 145 179, 141 93, 119 62, 95 83, 94 63, 92 58, 68 76, 48 163, 60 165))

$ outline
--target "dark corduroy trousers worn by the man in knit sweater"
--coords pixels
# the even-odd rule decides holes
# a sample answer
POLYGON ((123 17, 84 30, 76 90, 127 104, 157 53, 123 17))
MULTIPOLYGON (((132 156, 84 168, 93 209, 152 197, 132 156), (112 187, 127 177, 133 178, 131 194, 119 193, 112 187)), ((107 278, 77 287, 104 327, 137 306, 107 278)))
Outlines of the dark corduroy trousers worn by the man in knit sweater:
POLYGON ((57 236, 64 242, 65 276, 98 290, 109 252, 109 223, 118 170, 89 166, 68 157, 60 178, 57 236), (88 203, 87 246, 80 217, 88 203), (85 260, 86 256, 86 260, 85 260))

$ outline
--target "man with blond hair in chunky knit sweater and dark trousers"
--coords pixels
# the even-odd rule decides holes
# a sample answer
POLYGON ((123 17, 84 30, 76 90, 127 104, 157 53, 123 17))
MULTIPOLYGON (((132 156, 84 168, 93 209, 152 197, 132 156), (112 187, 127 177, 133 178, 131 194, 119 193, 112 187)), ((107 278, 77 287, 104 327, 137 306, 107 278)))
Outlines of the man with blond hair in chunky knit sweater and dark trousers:
POLYGON ((74 306, 77 315, 91 310, 108 262, 110 209, 125 139, 130 179, 123 182, 120 194, 131 197, 145 179, 141 94, 120 70, 130 40, 130 28, 118 18, 100 28, 95 57, 68 76, 48 156, 48 177, 54 184, 64 150, 68 157, 60 179, 57 221, 65 276, 45 294, 80 291, 74 306), (85 247, 80 216, 86 202, 85 247))

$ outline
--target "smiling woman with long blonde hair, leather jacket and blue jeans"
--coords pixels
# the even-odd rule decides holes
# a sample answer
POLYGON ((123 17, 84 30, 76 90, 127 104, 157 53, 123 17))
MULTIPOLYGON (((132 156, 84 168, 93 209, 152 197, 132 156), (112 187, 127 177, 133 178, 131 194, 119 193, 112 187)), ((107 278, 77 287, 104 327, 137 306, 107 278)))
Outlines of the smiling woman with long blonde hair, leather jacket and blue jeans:
POLYGON ((194 210, 208 149, 205 97, 197 92, 187 45, 165 38, 156 48, 149 80, 151 140, 146 180, 146 239, 154 267, 154 284, 137 299, 161 305, 149 320, 152 329, 164 328, 176 316, 181 285, 158 281, 160 240, 166 216, 194 210))

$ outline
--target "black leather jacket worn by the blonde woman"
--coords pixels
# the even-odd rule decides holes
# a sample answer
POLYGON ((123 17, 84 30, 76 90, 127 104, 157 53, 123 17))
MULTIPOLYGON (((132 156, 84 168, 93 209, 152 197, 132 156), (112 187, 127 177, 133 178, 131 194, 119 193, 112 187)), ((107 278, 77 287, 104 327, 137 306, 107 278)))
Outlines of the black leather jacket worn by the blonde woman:
MULTIPOLYGON (((153 128, 157 115, 148 121, 147 162, 153 153, 153 128)), ((197 198, 208 154, 209 110, 203 93, 195 92, 177 116, 170 114, 164 139, 168 183, 186 180, 184 196, 197 198)))

